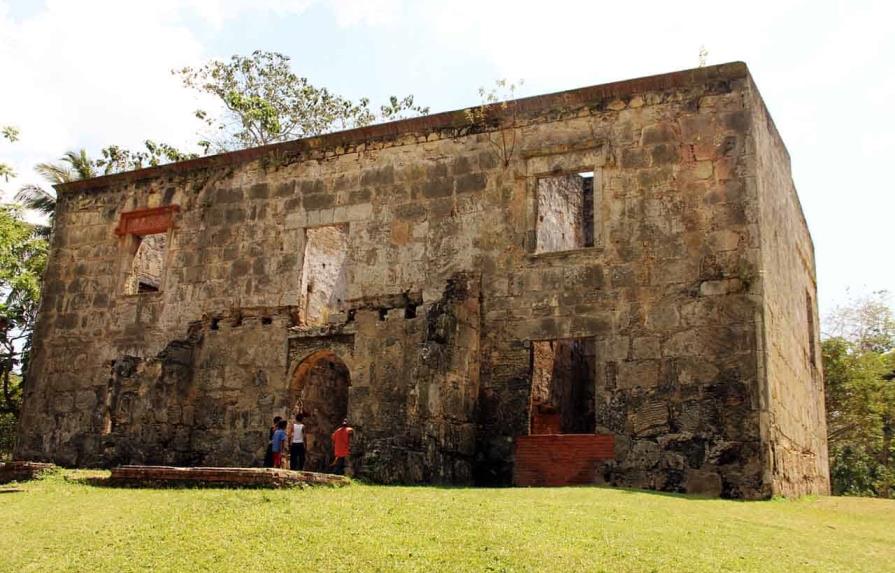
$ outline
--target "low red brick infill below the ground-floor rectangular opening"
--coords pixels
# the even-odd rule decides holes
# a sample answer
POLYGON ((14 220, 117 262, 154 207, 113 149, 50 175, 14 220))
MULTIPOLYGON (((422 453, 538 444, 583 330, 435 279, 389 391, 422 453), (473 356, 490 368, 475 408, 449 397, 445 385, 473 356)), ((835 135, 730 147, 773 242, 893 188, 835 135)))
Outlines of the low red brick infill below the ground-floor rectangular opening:
POLYGON ((516 438, 513 483, 582 485, 596 481, 600 462, 615 456, 611 435, 542 434, 516 438))

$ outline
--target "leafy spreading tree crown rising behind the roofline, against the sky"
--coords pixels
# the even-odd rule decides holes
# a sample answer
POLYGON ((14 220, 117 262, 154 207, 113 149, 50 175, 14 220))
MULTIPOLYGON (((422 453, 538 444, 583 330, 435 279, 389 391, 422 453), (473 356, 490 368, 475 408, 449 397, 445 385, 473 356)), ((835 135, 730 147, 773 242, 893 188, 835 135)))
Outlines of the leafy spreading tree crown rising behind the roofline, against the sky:
POLYGON ((288 56, 277 52, 258 50, 250 56, 234 55, 227 62, 214 60, 172 73, 186 87, 215 96, 226 110, 221 118, 196 111, 196 117, 215 132, 200 143, 206 150, 256 147, 360 127, 377 119, 429 113, 429 108, 414 104, 412 95, 392 96, 377 117, 369 99, 352 102, 313 86, 292 71, 288 56))

